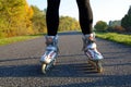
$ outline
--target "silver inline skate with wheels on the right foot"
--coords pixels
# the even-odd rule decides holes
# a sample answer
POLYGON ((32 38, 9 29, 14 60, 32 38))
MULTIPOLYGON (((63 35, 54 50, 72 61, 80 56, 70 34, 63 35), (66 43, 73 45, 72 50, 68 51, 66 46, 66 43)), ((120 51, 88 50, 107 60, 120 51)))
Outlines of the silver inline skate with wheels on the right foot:
POLYGON ((83 36, 83 51, 88 58, 88 63, 96 69, 96 72, 103 72, 102 60, 104 59, 100 52, 96 49, 95 34, 83 36))

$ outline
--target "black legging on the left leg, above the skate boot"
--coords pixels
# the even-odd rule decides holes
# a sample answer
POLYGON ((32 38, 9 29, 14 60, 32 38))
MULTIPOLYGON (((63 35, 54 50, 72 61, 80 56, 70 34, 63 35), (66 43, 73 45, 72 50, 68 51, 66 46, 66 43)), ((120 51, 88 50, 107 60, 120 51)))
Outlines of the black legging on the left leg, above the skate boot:
POLYGON ((59 26, 59 5, 60 0, 47 0, 47 35, 56 36, 59 26))

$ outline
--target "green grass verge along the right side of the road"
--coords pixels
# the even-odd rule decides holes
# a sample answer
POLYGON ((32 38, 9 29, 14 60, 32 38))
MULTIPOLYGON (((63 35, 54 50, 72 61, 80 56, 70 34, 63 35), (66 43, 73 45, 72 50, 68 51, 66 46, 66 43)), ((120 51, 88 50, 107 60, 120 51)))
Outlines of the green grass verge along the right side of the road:
POLYGON ((117 33, 96 33, 96 36, 103 39, 131 46, 131 35, 123 35, 117 33))

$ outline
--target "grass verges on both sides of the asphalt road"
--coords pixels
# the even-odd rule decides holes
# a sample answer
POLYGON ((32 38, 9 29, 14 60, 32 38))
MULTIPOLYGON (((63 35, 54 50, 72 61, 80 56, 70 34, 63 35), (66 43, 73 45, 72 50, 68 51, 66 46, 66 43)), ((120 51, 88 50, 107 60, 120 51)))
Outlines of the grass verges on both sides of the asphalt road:
MULTIPOLYGON (((24 41, 28 39, 34 39, 37 38, 41 35, 33 35, 33 36, 19 36, 19 37, 11 37, 11 38, 2 38, 0 39, 0 46, 3 45, 9 45, 12 42, 17 42, 17 41, 24 41)), ((116 41, 119 44, 124 44, 128 46, 131 46, 131 35, 123 35, 123 34, 117 34, 117 33, 97 33, 96 36, 103 39, 116 41)))

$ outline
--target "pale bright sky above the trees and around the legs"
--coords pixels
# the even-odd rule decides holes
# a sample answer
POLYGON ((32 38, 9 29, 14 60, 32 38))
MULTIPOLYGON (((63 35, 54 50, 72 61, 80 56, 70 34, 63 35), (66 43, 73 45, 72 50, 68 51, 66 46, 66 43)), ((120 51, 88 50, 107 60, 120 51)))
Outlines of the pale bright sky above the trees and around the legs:
MULTIPOLYGON (((28 4, 38 7, 40 10, 47 8, 47 0, 27 0, 28 4)), ((91 0, 94 24, 97 21, 121 20, 131 5, 131 0, 91 0)), ((78 4, 75 0, 61 0, 60 15, 68 15, 79 20, 78 4)))

